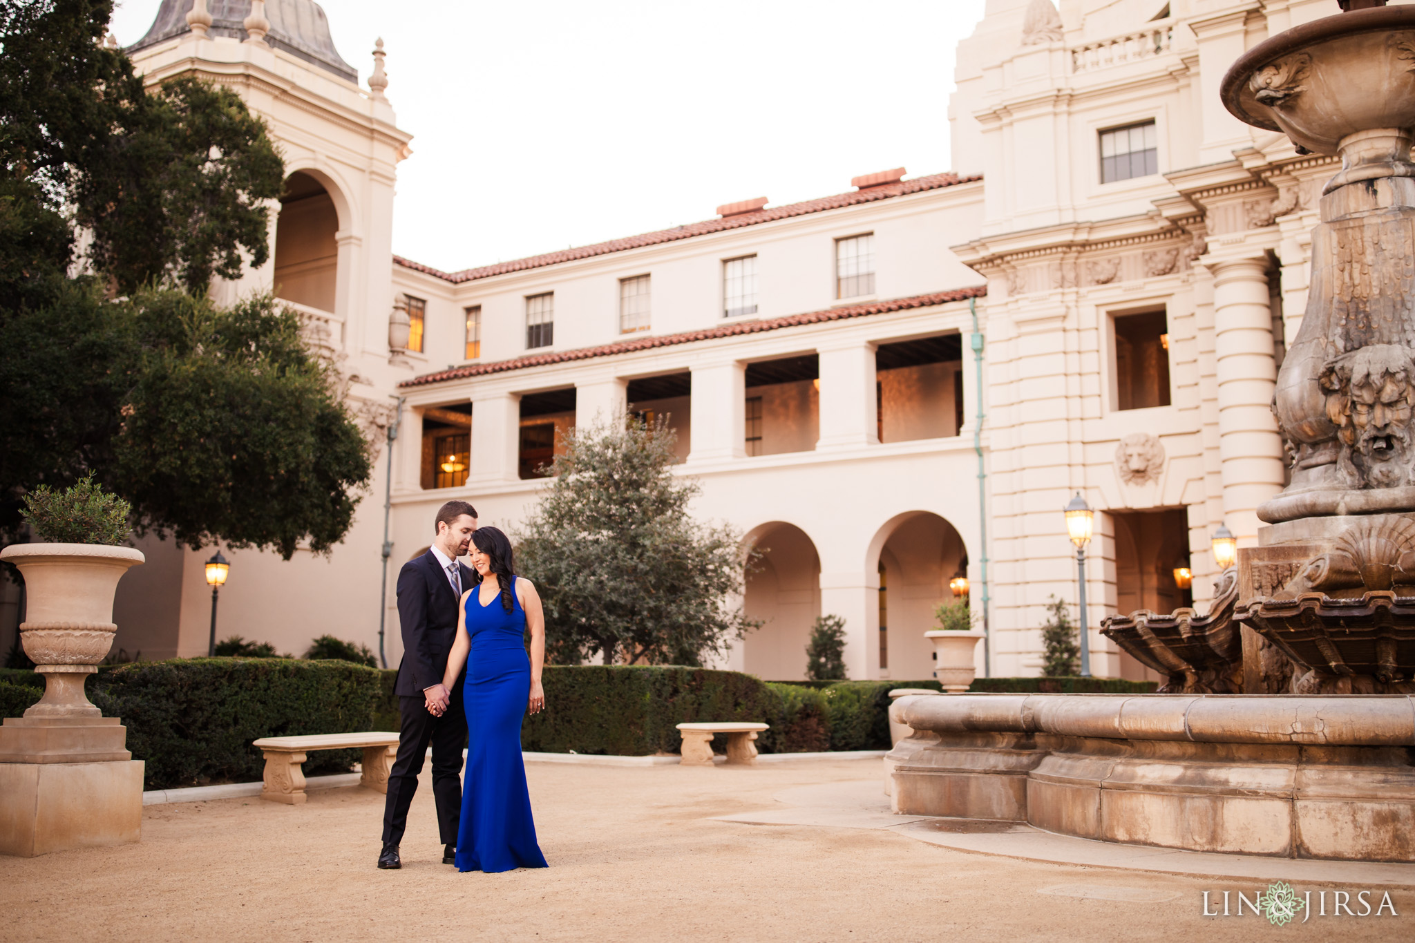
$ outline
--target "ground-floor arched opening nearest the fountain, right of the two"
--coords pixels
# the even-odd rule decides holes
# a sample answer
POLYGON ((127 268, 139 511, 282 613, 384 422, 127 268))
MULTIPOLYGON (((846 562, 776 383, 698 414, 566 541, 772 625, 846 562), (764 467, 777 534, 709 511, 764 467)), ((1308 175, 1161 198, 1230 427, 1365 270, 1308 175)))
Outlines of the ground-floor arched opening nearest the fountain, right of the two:
POLYGON ((945 519, 920 510, 884 525, 874 544, 880 575, 880 673, 899 680, 930 679, 934 646, 924 632, 935 628, 938 604, 954 601, 948 581, 966 571, 964 539, 945 519))

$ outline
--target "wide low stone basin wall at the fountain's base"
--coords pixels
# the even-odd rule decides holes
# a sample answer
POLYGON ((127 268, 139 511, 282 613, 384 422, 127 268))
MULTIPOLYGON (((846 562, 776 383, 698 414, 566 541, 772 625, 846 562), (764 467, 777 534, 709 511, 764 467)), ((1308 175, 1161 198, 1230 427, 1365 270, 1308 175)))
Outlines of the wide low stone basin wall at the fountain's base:
POLYGON ((1191 851, 1415 861, 1408 696, 901 697, 901 814, 1191 851))

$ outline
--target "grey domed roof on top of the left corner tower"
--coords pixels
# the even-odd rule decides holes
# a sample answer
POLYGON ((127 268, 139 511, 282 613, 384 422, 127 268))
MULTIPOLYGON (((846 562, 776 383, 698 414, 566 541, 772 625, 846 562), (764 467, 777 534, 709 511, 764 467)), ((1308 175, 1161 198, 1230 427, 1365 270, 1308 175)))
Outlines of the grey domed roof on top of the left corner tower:
MULTIPOLYGON (((137 52, 191 33, 187 25, 191 4, 192 0, 163 0, 147 35, 127 47, 127 51, 137 52)), ((207 10, 211 11, 211 35, 246 38, 242 21, 250 16, 250 0, 208 0, 207 10)), ((330 21, 314 0, 266 0, 266 18, 270 21, 266 42, 272 47, 358 83, 358 69, 345 62, 334 48, 330 21)))

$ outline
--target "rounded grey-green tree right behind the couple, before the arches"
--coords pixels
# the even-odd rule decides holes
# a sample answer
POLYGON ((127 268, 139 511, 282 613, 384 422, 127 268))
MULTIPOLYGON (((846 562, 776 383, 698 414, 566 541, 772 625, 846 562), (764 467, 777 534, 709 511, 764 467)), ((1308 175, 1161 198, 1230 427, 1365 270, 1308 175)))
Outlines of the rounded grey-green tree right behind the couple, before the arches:
POLYGON ((757 625, 740 608, 751 561, 739 536, 692 517, 699 488, 674 461, 662 421, 565 437, 516 546, 545 604, 553 662, 700 664, 757 625))

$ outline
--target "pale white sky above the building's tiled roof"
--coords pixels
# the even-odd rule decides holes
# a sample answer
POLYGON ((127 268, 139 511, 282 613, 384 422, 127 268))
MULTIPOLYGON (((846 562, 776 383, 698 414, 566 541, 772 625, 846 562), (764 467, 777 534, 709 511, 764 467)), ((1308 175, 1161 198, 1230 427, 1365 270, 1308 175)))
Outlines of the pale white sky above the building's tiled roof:
MULTIPOLYGON (((413 134, 393 252, 457 270, 951 170, 954 47, 985 0, 327 0, 413 134)), ((136 42, 160 0, 119 0, 136 42)))

